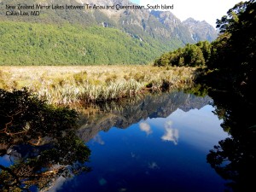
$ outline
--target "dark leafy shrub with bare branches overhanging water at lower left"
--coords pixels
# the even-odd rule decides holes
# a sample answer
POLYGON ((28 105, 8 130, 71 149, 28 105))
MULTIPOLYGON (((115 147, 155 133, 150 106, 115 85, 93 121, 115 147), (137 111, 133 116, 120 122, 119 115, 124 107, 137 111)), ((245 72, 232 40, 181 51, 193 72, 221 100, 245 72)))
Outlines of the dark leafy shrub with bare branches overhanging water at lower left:
POLYGON ((0 155, 12 166, 0 165, 1 191, 49 189, 59 177, 87 172, 90 149, 74 133, 78 114, 55 108, 27 90, 0 90, 0 155))

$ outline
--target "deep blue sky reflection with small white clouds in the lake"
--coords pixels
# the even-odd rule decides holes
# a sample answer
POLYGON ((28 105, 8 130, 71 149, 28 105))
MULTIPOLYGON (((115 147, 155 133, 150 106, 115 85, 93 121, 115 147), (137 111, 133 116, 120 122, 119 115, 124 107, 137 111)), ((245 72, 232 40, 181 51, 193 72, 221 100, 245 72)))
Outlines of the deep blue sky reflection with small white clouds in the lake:
POLYGON ((166 118, 98 132, 86 143, 92 172, 57 191, 224 191, 224 180, 206 160, 228 137, 212 110, 210 105, 187 112, 177 108, 166 118))

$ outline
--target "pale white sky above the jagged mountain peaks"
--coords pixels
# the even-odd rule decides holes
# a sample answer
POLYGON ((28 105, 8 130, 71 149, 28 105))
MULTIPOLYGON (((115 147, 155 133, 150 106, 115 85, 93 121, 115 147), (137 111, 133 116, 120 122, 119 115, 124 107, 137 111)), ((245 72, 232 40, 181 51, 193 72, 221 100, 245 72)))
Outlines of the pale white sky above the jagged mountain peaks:
POLYGON ((170 10, 180 20, 189 17, 195 20, 206 20, 212 26, 216 26, 216 20, 226 15, 227 11, 241 0, 131 0, 132 3, 141 5, 166 4, 172 5, 170 10))

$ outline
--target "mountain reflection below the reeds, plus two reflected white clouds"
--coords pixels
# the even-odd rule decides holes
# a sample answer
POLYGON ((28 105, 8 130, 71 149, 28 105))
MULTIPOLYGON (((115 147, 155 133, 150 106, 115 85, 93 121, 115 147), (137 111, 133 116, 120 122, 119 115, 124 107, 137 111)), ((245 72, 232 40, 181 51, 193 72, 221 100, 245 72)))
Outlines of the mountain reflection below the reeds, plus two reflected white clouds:
MULTIPOLYGON (((166 118, 171 113, 182 109, 184 112, 192 108, 200 109, 211 103, 209 96, 198 97, 186 94, 183 91, 172 91, 172 93, 161 93, 160 95, 147 95, 143 98, 137 97, 135 100, 122 102, 98 103, 97 113, 84 115, 80 121, 78 136, 87 143, 94 138, 99 131, 108 131, 112 127, 125 129, 141 119, 166 118)), ((139 125, 141 131, 147 135, 152 133, 150 125, 142 122, 139 125)), ((165 141, 177 143, 178 131, 166 124, 166 135, 162 137, 165 141)))

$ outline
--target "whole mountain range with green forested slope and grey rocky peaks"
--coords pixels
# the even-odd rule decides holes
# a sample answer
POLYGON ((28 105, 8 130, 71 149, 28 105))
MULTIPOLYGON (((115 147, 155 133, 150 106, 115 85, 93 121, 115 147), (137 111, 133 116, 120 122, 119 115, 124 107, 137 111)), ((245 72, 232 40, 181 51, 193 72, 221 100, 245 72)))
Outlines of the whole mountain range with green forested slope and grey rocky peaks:
POLYGON ((143 64, 163 52, 217 36, 212 26, 197 26, 201 22, 195 22, 191 31, 170 11, 119 9, 126 5, 135 4, 128 0, 2 0, 0 65, 143 64), (44 7, 7 7, 19 3, 44 7), (84 9, 66 9, 66 5, 84 9), (39 15, 31 15, 32 11, 39 15), (198 35, 196 29, 206 34, 198 35))

